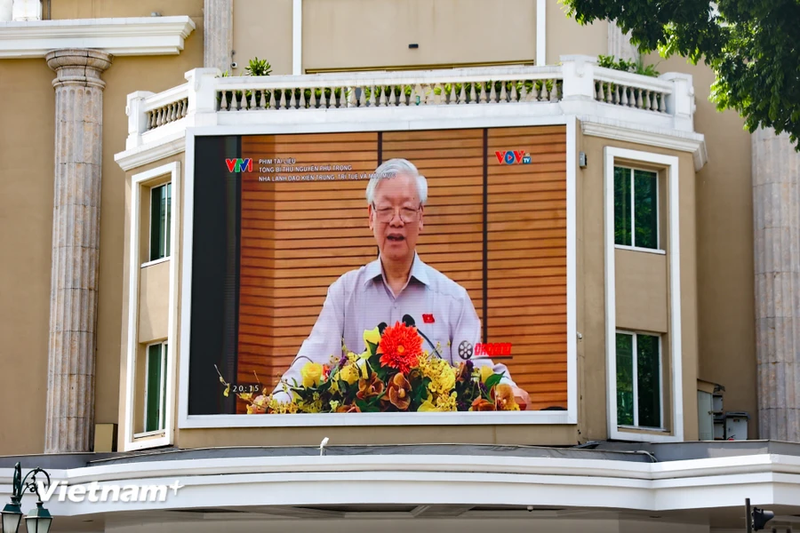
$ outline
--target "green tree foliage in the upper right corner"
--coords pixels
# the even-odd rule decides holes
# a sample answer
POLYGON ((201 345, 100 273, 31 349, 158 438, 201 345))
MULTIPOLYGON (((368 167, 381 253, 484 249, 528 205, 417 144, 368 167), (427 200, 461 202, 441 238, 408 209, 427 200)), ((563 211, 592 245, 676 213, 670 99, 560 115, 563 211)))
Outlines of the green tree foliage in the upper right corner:
POLYGON ((745 127, 788 132, 800 150, 800 2, 797 0, 562 0, 581 24, 616 20, 643 52, 704 61, 711 100, 745 127))

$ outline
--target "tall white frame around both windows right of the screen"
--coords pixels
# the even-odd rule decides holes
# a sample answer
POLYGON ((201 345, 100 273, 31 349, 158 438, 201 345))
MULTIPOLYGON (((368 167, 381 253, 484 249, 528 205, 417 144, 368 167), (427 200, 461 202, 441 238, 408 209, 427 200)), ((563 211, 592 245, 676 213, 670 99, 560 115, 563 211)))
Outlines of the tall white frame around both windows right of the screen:
MULTIPOLYGON (((681 265, 680 265, 680 167, 677 156, 655 154, 627 148, 606 146, 604 148, 603 200, 604 214, 604 255, 605 255, 605 343, 606 343, 606 423, 608 438, 635 442, 681 442, 684 435, 683 412, 683 359, 681 353, 681 265), (665 185, 665 242, 669 253, 665 253, 668 265, 668 325, 667 331, 660 332, 662 342, 668 335, 668 353, 661 350, 662 376, 669 379, 669 390, 662 390, 662 398, 668 398, 669 416, 662 416, 663 429, 629 428, 617 425, 617 305, 616 305, 616 251, 614 236, 614 167, 616 160, 624 164, 637 163, 646 168, 656 167, 665 185), (663 366, 663 365, 668 366, 663 366), (664 372, 669 372, 665 375, 664 372)), ((637 251, 649 251, 637 249, 637 251)), ((620 328, 622 329, 622 328, 620 328)), ((662 409, 666 410, 665 402, 662 409)))

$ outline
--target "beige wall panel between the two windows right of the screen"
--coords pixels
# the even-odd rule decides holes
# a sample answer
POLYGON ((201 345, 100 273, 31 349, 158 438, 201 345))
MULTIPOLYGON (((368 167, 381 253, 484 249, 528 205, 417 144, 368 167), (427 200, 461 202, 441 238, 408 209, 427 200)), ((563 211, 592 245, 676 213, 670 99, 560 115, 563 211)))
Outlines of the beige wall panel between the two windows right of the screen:
POLYGON ((615 250, 617 327, 666 333, 667 256, 615 250))

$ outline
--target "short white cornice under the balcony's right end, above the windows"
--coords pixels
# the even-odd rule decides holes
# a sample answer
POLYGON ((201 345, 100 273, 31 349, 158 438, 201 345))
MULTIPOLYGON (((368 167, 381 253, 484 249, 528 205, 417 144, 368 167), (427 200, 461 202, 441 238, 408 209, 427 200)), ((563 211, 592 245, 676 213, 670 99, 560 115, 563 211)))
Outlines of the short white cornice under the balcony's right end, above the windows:
POLYGON ((664 131, 597 117, 582 116, 578 118, 581 121, 581 131, 584 135, 689 152, 694 158, 696 172, 699 172, 708 163, 706 140, 701 133, 664 131))

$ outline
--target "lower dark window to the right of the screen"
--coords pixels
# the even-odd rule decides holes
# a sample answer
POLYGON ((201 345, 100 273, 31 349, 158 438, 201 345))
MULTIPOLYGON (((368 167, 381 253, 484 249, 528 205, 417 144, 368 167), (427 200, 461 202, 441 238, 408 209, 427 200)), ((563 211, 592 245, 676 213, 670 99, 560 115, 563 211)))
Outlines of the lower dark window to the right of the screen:
POLYGON ((662 427, 661 338, 617 333, 617 425, 662 427))

